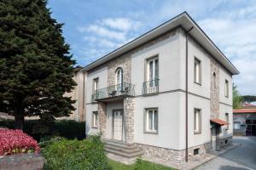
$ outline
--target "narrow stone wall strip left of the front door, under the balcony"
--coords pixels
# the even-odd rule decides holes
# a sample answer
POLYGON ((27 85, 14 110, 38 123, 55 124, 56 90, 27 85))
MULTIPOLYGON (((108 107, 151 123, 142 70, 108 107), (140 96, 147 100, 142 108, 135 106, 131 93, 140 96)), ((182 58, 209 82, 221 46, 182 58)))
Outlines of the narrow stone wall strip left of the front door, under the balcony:
POLYGON ((107 104, 103 102, 98 103, 98 114, 99 114, 99 130, 102 133, 102 137, 106 135, 106 124, 107 124, 107 104))

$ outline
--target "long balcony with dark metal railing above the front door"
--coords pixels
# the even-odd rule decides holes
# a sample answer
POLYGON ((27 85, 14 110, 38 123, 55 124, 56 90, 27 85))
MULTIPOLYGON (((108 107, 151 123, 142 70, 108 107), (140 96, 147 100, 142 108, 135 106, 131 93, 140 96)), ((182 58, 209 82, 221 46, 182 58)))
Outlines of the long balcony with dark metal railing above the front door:
POLYGON ((91 102, 111 101, 131 97, 135 94, 134 88, 135 85, 127 82, 109 86, 108 88, 101 88, 96 90, 94 94, 91 94, 91 102))

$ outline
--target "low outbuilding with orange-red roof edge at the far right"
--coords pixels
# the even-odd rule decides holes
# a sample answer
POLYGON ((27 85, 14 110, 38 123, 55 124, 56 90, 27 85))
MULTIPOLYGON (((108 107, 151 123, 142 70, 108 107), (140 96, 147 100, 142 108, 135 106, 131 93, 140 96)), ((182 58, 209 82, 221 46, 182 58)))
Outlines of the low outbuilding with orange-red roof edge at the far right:
POLYGON ((235 135, 256 136, 256 108, 233 110, 233 124, 235 135))

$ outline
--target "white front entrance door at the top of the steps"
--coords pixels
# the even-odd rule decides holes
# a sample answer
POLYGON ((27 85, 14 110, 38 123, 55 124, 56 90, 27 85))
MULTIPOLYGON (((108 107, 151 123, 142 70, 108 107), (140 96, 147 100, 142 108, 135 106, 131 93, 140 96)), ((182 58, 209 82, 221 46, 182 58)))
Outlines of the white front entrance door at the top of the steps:
POLYGON ((113 139, 123 139, 123 111, 113 111, 113 139))

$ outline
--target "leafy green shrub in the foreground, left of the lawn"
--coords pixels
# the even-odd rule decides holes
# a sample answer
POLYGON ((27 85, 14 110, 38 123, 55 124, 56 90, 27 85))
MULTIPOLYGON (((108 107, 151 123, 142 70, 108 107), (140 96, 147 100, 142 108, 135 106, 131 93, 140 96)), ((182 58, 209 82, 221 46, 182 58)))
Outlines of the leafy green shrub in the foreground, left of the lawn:
POLYGON ((108 159, 100 137, 90 136, 84 140, 61 139, 50 142, 42 149, 46 159, 44 169, 108 170, 108 159))

